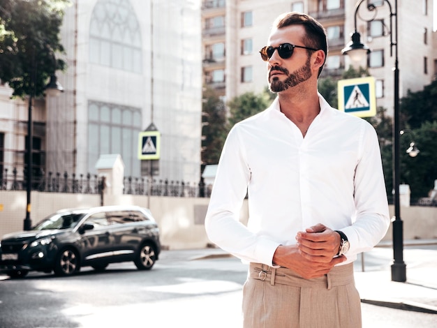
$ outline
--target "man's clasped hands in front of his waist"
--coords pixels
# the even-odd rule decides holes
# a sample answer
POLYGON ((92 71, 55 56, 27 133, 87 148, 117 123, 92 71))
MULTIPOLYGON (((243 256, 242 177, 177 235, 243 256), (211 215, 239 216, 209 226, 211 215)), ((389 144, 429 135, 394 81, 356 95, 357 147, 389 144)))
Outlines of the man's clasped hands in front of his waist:
POLYGON ((297 232, 297 244, 279 246, 273 262, 295 271, 302 278, 311 279, 327 274, 336 264, 346 261, 339 252, 340 235, 318 223, 304 232, 297 232))

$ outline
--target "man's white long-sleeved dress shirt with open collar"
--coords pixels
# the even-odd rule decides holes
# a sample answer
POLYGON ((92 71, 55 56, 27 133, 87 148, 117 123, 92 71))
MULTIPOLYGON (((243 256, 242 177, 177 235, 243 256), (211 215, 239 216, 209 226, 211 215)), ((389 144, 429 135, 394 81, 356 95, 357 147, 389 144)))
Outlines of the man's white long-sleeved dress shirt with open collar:
POLYGON ((273 265, 279 245, 323 223, 348 237, 347 264, 384 237, 390 218, 376 132, 319 100, 305 137, 278 98, 231 129, 205 218, 209 239, 223 250, 273 265), (246 193, 247 227, 239 222, 246 193))

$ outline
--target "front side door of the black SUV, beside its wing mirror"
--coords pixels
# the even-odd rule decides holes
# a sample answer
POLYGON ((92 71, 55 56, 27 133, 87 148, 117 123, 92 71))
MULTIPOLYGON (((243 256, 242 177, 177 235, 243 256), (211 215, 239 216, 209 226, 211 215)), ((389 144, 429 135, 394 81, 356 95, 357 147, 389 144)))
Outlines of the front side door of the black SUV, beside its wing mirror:
POLYGON ((114 237, 110 232, 110 223, 105 212, 91 214, 82 226, 92 225, 92 229, 85 229, 80 244, 85 262, 105 260, 112 256, 114 237))

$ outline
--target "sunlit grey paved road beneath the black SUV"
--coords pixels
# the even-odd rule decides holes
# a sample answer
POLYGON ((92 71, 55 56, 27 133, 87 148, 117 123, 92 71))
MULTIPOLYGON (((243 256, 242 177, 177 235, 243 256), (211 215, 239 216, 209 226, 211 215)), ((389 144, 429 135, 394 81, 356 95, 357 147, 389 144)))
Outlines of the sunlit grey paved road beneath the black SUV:
MULTIPOLYGON (((101 274, 84 268, 68 278, 0 276, 0 327, 241 327, 246 265, 235 258, 195 260, 198 255, 165 251, 151 271, 124 263, 101 274)), ((367 259, 366 269, 379 265, 367 259)), ((362 309, 364 328, 436 327, 437 315, 429 313, 362 309)))

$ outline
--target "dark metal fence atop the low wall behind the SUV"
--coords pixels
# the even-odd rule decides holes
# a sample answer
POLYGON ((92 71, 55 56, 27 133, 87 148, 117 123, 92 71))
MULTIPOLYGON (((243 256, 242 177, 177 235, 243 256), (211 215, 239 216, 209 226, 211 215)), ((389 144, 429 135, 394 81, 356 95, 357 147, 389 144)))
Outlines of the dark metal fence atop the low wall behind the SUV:
MULTIPOLYGON (((26 172, 19 173, 16 168, 12 172, 3 170, 0 176, 0 190, 27 190, 26 172)), ((186 183, 184 181, 168 181, 168 179, 145 179, 125 177, 123 193, 127 195, 154 195, 168 197, 209 197, 209 189, 205 184, 186 183)), ((100 194, 105 188, 105 178, 96 174, 68 174, 33 172, 31 190, 45 193, 85 193, 100 194)))

